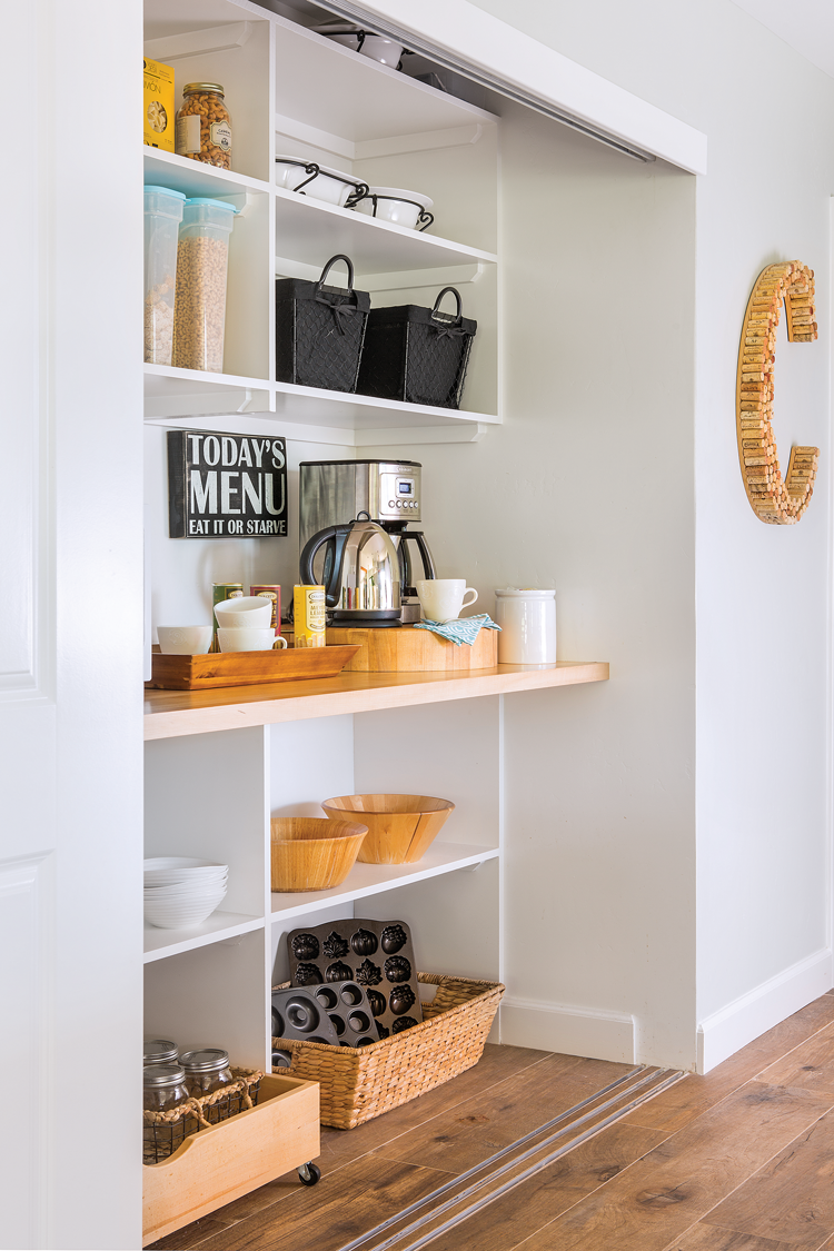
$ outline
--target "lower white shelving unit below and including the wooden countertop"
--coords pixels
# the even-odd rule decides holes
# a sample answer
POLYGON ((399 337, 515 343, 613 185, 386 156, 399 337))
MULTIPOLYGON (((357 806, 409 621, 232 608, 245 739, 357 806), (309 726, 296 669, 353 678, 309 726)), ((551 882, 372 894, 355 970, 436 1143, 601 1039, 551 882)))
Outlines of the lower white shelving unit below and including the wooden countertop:
POLYGON ((286 933, 343 917, 404 919, 423 968, 496 977, 501 699, 606 677, 605 664, 560 663, 149 692, 146 854, 213 857, 230 874, 228 911, 195 931, 146 929, 148 1028, 195 1046, 220 1031, 241 1062, 269 1063, 268 996, 286 977, 286 933), (270 817, 323 816, 330 796, 418 786, 456 804, 418 863, 356 863, 334 889, 271 892, 270 817), (205 1002, 221 971, 258 985, 234 1022, 205 1002))

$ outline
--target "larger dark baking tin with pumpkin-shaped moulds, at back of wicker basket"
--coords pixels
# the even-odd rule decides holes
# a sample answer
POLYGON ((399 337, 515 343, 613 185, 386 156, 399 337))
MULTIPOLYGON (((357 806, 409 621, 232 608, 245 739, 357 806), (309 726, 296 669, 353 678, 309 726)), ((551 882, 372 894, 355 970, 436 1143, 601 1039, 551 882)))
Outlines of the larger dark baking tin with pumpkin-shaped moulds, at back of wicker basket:
MULTIPOLYGON (((330 921, 288 936, 293 986, 348 980, 364 988, 380 1038, 423 1020, 411 931, 404 921, 330 921)), ((315 992, 314 992, 315 993, 315 992)))

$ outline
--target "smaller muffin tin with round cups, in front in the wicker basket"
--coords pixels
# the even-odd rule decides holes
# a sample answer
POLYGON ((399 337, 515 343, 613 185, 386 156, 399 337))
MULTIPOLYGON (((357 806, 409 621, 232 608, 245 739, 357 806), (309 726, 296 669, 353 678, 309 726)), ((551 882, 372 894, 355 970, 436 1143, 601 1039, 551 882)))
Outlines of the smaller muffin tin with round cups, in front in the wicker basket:
POLYGON ((331 1047, 368 1047, 383 1036, 361 986, 338 982, 273 991, 273 1037, 326 1042, 331 1047))

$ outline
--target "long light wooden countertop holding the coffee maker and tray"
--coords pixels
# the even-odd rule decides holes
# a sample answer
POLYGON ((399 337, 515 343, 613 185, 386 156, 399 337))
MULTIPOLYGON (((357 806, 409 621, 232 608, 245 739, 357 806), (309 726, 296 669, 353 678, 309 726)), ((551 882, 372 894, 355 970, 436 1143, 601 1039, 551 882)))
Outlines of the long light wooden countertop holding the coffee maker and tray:
POLYGON ((605 661, 559 661, 541 668, 498 664, 463 674, 340 673, 220 691, 145 691, 145 739, 605 682, 608 677, 605 661))

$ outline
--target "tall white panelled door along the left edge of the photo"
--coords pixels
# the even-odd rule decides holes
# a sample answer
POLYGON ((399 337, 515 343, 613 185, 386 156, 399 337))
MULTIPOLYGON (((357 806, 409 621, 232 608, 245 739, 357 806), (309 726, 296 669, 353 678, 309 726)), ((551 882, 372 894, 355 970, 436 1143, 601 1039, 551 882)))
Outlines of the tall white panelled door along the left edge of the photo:
POLYGON ((0 1248, 136 1247, 141 5, 4 34, 0 1248))

